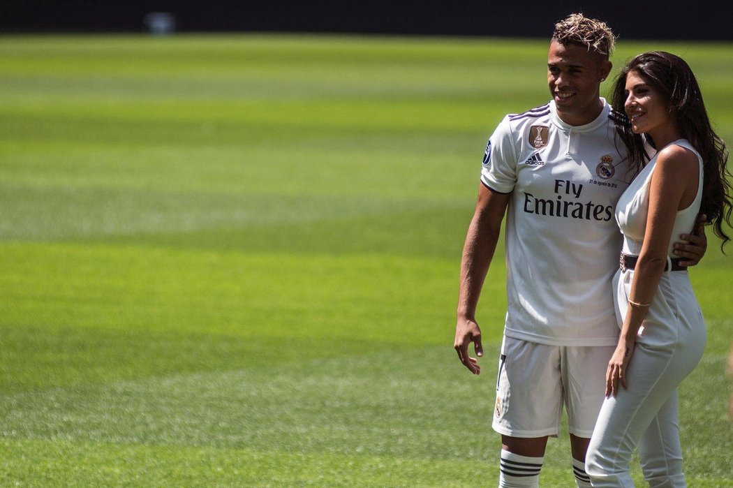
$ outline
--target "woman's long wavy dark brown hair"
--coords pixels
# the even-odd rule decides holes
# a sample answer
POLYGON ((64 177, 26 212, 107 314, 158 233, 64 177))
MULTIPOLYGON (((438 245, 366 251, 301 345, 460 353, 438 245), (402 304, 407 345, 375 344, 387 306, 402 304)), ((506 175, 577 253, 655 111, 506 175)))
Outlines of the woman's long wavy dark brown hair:
MULTIPOLYGON (((677 114, 677 125, 682 137, 690 141, 700 153, 703 163, 700 211, 707 215, 707 223, 712 223, 715 235, 723 240, 722 249, 730 240, 723 229, 723 223, 731 226, 731 174, 726 167, 728 149, 710 125, 695 74, 684 59, 664 51, 639 54, 627 62, 619 73, 611 94, 611 105, 622 114, 622 120, 618 124, 619 137, 629 151, 631 166, 636 169, 641 169, 649 156, 644 150, 644 138, 632 132, 630 122, 625 117, 626 78, 632 71, 666 97, 677 114)), ((654 141, 649 135, 647 141, 654 147, 654 141)))

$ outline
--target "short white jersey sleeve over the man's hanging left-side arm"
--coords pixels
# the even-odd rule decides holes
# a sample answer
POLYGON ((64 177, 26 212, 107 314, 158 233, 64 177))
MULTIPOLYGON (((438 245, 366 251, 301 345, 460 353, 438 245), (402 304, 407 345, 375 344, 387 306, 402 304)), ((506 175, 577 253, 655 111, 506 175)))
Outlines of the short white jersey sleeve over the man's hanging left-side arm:
POLYGON ((509 116, 499 123, 486 144, 481 182, 499 193, 512 193, 514 190, 517 182, 517 157, 509 116))

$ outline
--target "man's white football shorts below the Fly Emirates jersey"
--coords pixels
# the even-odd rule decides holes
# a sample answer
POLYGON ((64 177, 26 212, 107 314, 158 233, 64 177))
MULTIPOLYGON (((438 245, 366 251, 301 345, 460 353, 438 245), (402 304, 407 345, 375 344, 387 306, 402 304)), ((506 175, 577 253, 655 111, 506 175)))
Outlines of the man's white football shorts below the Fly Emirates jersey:
POLYGON ((614 350, 616 346, 550 346, 504 336, 493 429, 510 437, 556 436, 565 407, 570 434, 591 437, 614 350))

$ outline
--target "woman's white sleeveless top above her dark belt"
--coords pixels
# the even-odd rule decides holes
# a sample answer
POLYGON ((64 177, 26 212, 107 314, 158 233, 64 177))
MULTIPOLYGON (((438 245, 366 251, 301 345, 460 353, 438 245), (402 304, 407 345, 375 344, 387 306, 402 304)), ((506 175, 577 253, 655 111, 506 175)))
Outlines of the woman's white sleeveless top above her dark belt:
MULTIPOLYGON (((692 232, 697 215, 700 212, 700 203, 702 201, 702 158, 699 152, 692 147, 687 139, 678 139, 671 142, 679 147, 684 147, 694 152, 697 156, 699 167, 699 178, 697 184, 697 194, 689 207, 679 210, 674 219, 674 228, 670 242, 668 243, 667 254, 673 257, 673 245, 679 240, 679 234, 692 232)), ((657 164, 657 156, 644 166, 644 169, 631 182, 626 191, 622 194, 618 204, 616 204, 616 222, 619 224, 622 234, 624 234, 623 252, 625 254, 638 255, 641 252, 641 245, 644 243, 644 229, 647 226, 647 215, 649 213, 649 183, 652 181, 652 173, 657 164)))

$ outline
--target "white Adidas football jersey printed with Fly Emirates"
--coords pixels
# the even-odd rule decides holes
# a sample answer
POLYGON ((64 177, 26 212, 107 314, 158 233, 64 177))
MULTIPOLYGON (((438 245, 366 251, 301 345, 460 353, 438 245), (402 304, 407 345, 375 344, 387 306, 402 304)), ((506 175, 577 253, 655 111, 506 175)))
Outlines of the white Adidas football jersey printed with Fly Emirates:
POLYGON ((616 143, 616 116, 603 100, 593 122, 567 125, 550 101, 507 115, 489 139, 481 181, 512 193, 507 336, 567 346, 618 341, 611 279, 622 237, 614 214, 634 174, 616 143))

